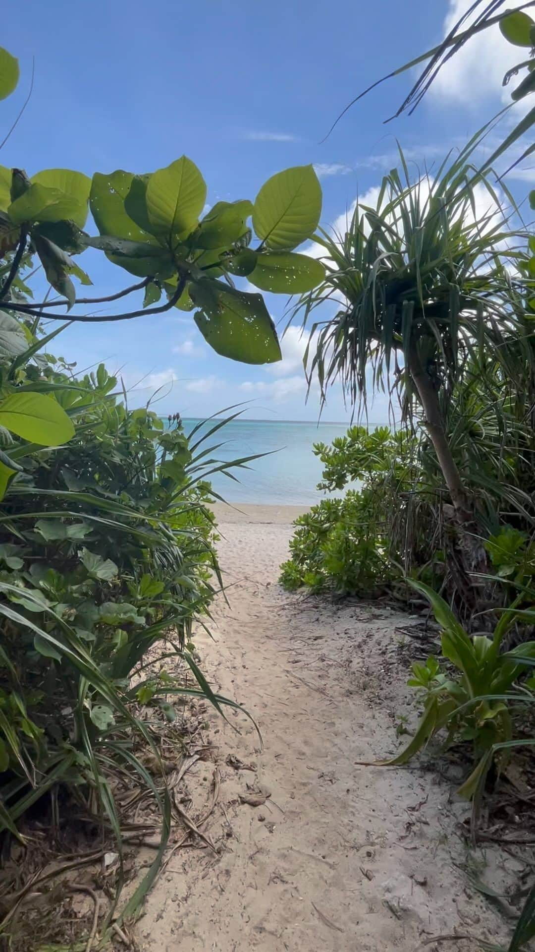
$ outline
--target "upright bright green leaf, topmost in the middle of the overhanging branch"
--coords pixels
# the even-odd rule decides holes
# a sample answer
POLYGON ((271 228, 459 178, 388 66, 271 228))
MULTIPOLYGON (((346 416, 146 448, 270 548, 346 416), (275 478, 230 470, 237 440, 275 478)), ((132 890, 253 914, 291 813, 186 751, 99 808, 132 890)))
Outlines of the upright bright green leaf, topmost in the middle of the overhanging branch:
POLYGON ((149 178, 147 211, 152 234, 167 240, 188 234, 197 224, 207 186, 197 166, 183 155, 149 178))

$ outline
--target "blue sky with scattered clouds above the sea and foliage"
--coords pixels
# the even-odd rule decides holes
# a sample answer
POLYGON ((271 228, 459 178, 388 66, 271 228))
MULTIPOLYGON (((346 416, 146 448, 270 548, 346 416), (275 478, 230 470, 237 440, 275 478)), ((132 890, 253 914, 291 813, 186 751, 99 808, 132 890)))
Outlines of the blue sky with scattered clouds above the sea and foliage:
MULTIPOLYGON (((0 155, 6 166, 94 171, 162 168, 186 153, 208 183, 208 203, 253 199, 273 172, 313 162, 324 189, 322 224, 350 208, 357 192, 377 186, 395 163, 396 137, 420 167, 462 144, 500 107, 505 69, 518 59, 498 30, 474 41, 412 117, 384 126, 408 78, 386 83, 319 144, 340 109, 390 69, 437 43, 445 19, 465 0, 27 0, 3 16, 2 45, 19 57, 22 79, 0 104, 8 129, 30 84, 30 105, 0 155), (496 75, 488 93, 488 70, 496 75)), ((519 171, 521 193, 531 171, 519 171)), ((510 183, 514 186, 514 183, 510 183)), ((79 259, 95 290, 111 293, 129 276, 96 252, 79 259)), ((124 284, 123 284, 124 283, 124 284)), ((267 295, 277 322, 283 296, 267 295)), ((122 368, 131 402, 165 383, 157 407, 183 415, 213 413, 242 400, 258 418, 316 419, 305 404, 297 328, 273 367, 227 361, 205 345, 192 317, 176 309, 129 323, 77 325, 58 343, 84 368, 105 360, 122 368), (174 381, 174 383, 168 383, 174 381)), ((378 399, 370 420, 385 420, 378 399)), ((345 420, 334 389, 325 418, 345 420)))

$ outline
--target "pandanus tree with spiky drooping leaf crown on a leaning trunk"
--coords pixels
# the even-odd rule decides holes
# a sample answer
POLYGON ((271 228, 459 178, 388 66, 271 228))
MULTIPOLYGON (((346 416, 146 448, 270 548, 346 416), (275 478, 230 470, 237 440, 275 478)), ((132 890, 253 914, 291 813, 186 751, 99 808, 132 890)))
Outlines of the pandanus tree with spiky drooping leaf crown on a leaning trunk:
POLYGON ((307 323, 317 307, 339 303, 311 328, 317 347, 307 354, 310 378, 317 374, 324 396, 340 380, 348 402, 361 409, 370 377, 373 387, 397 390, 406 417, 426 427, 465 526, 476 506, 448 441, 448 395, 468 361, 483 380, 489 364, 514 375, 519 348, 531 359, 525 287, 517 288, 505 267, 523 254, 525 236, 509 228, 490 181, 465 164, 472 148, 415 183, 400 153, 403 182, 390 171, 375 208, 357 202, 345 234, 315 236, 326 278, 296 307, 307 323))

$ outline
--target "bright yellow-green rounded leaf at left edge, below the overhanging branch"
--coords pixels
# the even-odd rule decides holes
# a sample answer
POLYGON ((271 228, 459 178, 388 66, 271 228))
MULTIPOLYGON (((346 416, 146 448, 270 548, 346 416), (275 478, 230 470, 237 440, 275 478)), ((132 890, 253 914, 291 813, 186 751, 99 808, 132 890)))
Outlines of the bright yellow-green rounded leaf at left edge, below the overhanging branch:
POLYGON ((0 426, 39 446, 59 446, 74 436, 67 413, 46 393, 10 393, 0 402, 0 426))

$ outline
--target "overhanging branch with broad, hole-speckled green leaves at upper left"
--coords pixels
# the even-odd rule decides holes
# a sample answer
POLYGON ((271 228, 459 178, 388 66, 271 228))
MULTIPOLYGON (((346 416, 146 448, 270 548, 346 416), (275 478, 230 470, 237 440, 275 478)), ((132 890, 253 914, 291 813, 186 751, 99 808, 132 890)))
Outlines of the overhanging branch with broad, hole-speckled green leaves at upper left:
MULTIPOLYGON (((0 50, 4 95, 18 78, 16 60, 0 50), (13 65, 14 64, 14 65, 13 65)), ((248 200, 217 202, 205 209, 207 186, 183 155, 165 169, 136 175, 118 169, 92 180, 69 169, 44 169, 29 178, 22 169, 0 168, 0 249, 13 252, 0 288, 6 310, 63 319, 67 309, 122 299, 144 290, 142 307, 104 315, 72 311, 71 321, 127 320, 170 307, 195 310, 194 320, 210 347, 248 364, 281 359, 275 327, 260 294, 235 288, 248 277, 262 290, 300 293, 323 278, 322 265, 293 249, 317 227, 322 191, 311 165, 273 175, 248 200), (99 235, 83 230, 88 203, 99 235), (252 228, 248 219, 252 219, 252 228), (253 229, 259 239, 251 248, 253 229), (60 302, 14 300, 10 288, 27 248, 35 251, 60 302), (76 297, 71 276, 90 284, 72 256, 98 248, 110 261, 142 280, 102 298, 76 297), (164 295, 165 303, 158 302, 164 295), (51 308, 51 309, 50 309, 51 308)))

